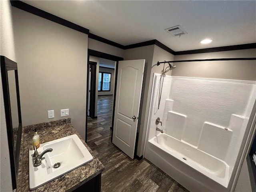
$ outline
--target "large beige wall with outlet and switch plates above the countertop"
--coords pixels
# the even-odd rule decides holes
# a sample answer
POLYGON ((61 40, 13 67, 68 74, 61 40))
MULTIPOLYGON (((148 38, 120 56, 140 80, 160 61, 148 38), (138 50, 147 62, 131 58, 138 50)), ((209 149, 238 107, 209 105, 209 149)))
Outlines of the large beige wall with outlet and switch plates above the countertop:
POLYGON ((13 19, 23 126, 68 117, 85 139, 88 36, 17 8, 13 19))

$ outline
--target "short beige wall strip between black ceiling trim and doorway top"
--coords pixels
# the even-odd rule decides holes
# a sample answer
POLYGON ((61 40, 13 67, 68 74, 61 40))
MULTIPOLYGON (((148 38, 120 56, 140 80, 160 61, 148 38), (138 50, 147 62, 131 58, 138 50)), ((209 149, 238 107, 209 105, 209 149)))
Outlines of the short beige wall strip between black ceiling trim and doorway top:
POLYGON ((107 53, 110 55, 118 56, 118 57, 124 57, 124 50, 114 47, 112 45, 102 43, 100 41, 88 38, 88 49, 92 49, 95 51, 99 51, 102 53, 107 53))

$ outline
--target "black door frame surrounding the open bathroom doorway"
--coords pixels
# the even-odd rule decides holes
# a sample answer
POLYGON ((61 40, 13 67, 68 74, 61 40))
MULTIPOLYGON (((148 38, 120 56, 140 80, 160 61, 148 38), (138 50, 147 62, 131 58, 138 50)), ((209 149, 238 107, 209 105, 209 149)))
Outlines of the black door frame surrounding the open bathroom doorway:
MULTIPOLYGON (((115 75, 115 88, 114 88, 114 101, 113 104, 116 103, 116 81, 117 81, 117 70, 118 70, 118 61, 122 61, 124 60, 124 58, 122 57, 118 57, 118 56, 114 56, 114 55, 110 55, 107 53, 103 53, 103 52, 99 52, 99 51, 95 51, 92 49, 88 49, 87 52, 87 66, 89 66, 90 63, 90 56, 94 56, 94 57, 99 57, 99 58, 104 58, 104 59, 108 59, 108 60, 112 60, 116 62, 116 75, 115 75)), ((88 67, 87 67, 87 71, 88 71, 88 67)), ((96 80, 95 80, 96 81, 96 80)), ((85 142, 87 143, 87 112, 88 112, 88 78, 87 78, 87 84, 86 84, 86 120, 85 120, 85 142)), ((96 89, 96 83, 94 84, 94 90, 96 89)), ((92 90, 92 87, 91 87, 92 90)), ((94 96, 94 106, 95 106, 95 96, 94 96)), ((110 127, 110 129, 112 129, 113 125, 114 125, 114 112, 115 112, 115 108, 113 107, 113 115, 112 115, 112 126, 110 127)), ((112 134, 111 134, 111 142, 112 142, 112 137, 113 137, 113 129, 112 129, 112 134)))

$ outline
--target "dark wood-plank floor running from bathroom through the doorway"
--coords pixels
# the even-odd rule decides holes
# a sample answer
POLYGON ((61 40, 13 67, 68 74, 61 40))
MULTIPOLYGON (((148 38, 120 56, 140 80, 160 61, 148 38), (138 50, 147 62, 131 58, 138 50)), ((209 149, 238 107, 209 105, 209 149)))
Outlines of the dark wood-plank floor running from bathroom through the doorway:
POLYGON ((189 192, 148 160, 132 160, 112 144, 112 96, 98 96, 97 116, 88 117, 87 144, 105 166, 102 192, 189 192))

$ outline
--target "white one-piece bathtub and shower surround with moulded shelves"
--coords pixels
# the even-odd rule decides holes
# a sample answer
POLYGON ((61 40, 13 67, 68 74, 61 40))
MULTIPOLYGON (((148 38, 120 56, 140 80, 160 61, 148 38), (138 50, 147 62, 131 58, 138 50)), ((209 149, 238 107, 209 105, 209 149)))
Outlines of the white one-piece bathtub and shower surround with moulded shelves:
POLYGON ((190 191, 230 191, 256 82, 166 75, 158 109, 159 81, 154 74, 145 158, 190 191))

